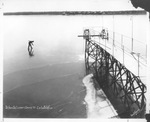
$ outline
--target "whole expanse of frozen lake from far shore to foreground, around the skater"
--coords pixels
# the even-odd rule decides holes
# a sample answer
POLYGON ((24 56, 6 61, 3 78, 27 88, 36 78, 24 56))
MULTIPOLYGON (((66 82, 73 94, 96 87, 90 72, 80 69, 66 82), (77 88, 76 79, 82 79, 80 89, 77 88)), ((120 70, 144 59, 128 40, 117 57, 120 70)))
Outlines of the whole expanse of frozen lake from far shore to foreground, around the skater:
POLYGON ((86 118, 85 43, 78 35, 85 27, 104 26, 129 37, 133 31, 146 43, 145 18, 4 16, 4 117, 86 118), (34 40, 32 57, 28 40, 34 40))

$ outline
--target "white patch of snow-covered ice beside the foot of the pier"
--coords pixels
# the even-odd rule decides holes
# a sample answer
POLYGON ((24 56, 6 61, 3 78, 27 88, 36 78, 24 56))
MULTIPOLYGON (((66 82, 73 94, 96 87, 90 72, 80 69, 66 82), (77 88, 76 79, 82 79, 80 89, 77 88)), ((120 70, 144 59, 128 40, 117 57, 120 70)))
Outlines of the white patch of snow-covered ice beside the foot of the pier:
POLYGON ((96 90, 92 82, 93 74, 89 74, 83 79, 86 87, 85 102, 87 104, 88 118, 111 118, 117 116, 117 113, 104 92, 96 90))

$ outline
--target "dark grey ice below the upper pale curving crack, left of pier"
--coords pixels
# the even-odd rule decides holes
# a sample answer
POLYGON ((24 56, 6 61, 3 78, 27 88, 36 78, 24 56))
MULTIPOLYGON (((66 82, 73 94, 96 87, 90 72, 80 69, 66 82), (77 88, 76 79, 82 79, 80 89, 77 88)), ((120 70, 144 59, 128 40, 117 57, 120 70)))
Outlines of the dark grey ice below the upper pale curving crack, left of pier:
POLYGON ((4 81, 13 83, 4 82, 4 118, 85 118, 82 69, 82 63, 72 63, 7 75, 4 81))

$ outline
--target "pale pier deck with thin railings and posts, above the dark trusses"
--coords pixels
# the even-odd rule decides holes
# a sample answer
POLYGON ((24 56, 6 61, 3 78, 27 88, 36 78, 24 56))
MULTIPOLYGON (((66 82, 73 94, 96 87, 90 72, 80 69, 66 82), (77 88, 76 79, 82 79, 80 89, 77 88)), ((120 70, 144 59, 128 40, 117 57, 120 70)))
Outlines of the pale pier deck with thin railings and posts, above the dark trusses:
POLYGON ((116 57, 116 59, 125 65, 132 73, 140 76, 143 80, 146 79, 147 45, 144 40, 141 42, 104 27, 89 27, 89 30, 90 38, 93 41, 112 56, 116 57), (135 64, 134 68, 131 68, 127 59, 130 59, 132 61, 131 63, 135 64))

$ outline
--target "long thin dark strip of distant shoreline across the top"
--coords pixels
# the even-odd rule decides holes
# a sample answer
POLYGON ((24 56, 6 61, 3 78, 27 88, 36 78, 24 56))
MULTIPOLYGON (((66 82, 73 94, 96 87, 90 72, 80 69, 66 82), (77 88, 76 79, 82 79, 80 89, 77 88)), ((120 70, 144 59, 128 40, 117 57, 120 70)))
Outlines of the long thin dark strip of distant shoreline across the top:
POLYGON ((28 11, 4 12, 3 15, 144 15, 145 10, 124 11, 28 11))

